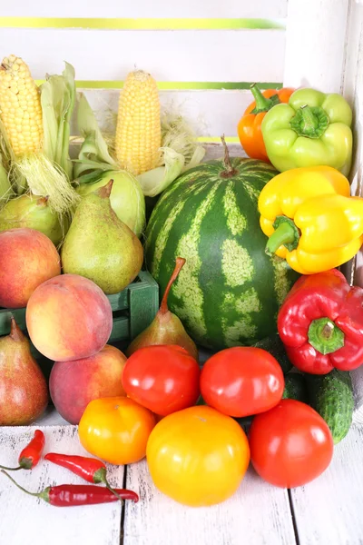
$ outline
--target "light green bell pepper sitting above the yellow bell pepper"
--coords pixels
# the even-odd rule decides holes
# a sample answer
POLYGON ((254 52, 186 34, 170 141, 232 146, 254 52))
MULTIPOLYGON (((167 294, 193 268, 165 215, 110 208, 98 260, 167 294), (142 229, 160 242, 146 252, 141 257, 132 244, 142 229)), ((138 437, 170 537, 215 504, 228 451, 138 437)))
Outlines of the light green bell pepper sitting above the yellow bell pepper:
POLYGON ((328 165, 348 175, 353 136, 352 111, 340 94, 298 89, 288 104, 265 115, 262 135, 270 162, 280 172, 328 165))

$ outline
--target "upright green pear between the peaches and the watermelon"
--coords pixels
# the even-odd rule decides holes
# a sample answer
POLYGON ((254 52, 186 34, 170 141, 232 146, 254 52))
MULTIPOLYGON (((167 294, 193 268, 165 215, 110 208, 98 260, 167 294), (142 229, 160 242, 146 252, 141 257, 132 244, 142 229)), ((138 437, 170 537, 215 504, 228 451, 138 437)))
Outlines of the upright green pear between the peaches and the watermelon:
POLYGON ((61 252, 64 273, 89 278, 104 293, 122 292, 142 268, 142 243, 113 212, 113 180, 83 197, 61 252))

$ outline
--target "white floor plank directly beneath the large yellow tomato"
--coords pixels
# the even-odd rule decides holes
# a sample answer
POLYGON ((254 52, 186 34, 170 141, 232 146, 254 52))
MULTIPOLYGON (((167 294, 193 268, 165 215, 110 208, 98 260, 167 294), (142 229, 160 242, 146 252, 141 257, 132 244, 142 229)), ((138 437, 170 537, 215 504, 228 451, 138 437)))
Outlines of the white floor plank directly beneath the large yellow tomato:
POLYGON ((139 504, 126 506, 124 545, 293 545, 286 490, 249 470, 234 496, 209 508, 187 508, 157 490, 146 461, 127 468, 127 486, 139 504))

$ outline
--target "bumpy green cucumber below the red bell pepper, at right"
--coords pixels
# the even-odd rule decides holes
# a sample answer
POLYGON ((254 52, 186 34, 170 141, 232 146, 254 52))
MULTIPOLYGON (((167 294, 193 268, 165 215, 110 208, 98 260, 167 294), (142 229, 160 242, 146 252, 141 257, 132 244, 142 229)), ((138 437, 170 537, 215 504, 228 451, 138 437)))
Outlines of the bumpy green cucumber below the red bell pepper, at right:
POLYGON ((306 374, 309 405, 329 425, 334 444, 347 435, 354 409, 353 386, 350 374, 334 369, 326 375, 306 374))

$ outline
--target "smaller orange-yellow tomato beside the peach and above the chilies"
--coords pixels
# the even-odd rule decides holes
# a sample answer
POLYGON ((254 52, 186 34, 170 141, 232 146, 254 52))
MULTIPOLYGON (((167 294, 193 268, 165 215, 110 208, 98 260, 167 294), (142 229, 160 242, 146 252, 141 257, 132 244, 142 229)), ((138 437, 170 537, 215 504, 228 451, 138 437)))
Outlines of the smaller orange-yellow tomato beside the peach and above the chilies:
POLYGON ((101 398, 88 403, 78 426, 83 448, 116 465, 142 460, 155 418, 126 397, 101 398))

